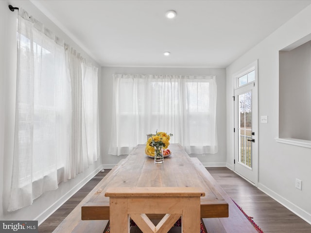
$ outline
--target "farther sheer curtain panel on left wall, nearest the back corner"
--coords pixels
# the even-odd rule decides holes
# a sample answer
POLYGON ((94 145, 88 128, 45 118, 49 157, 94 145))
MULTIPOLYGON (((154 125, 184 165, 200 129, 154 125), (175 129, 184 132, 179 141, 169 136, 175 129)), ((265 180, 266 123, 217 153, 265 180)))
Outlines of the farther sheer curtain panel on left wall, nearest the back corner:
POLYGON ((99 155, 98 68, 87 64, 73 48, 65 44, 65 57, 71 86, 71 125, 69 156, 65 163, 65 180, 75 178, 99 155))

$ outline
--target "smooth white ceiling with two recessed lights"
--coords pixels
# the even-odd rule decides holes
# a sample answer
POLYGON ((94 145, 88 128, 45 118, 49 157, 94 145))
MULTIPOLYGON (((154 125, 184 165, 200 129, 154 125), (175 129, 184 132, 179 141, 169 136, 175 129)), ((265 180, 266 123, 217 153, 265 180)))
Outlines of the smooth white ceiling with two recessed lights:
POLYGON ((103 67, 227 67, 311 0, 31 0, 103 67), (175 10, 177 17, 165 13, 175 10), (170 56, 164 56, 170 51, 170 56))

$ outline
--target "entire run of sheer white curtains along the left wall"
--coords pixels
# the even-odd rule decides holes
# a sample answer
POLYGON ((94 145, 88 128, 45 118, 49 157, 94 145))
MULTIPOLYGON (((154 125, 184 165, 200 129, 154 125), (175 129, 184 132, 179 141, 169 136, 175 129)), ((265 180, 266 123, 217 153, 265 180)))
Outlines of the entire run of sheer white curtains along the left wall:
POLYGON ((31 205, 43 192, 75 177, 98 157, 98 111, 88 113, 94 110, 89 105, 97 106, 97 91, 83 100, 90 89, 88 86, 85 91, 84 84, 97 90, 97 68, 82 65, 85 60, 68 54, 64 42, 23 9, 18 14, 15 142, 8 211, 31 205), (87 141, 94 139, 87 153, 87 141))

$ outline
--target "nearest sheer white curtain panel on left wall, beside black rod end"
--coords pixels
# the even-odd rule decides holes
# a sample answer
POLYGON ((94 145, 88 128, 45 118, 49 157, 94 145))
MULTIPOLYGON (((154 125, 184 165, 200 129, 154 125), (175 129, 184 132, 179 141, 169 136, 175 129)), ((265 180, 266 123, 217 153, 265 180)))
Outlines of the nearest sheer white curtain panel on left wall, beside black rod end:
POLYGON ((56 189, 59 155, 68 153, 69 102, 60 96, 70 90, 64 49, 42 24, 19 10, 17 45, 17 104, 12 188, 9 211, 30 205, 43 192, 56 189), (55 145, 59 145, 56 147, 55 145), (56 150, 57 148, 57 150, 56 150))

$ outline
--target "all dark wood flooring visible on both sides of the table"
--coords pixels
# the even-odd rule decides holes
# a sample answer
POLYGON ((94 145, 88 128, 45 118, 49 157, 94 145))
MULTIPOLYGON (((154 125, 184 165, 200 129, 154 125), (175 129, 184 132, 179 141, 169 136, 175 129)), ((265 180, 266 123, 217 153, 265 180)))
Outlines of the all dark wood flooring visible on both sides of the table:
MULTIPOLYGON (((233 171, 226 167, 208 167, 207 170, 224 188, 225 192, 242 207, 244 212, 248 216, 254 217, 253 220, 264 233, 311 233, 309 223, 294 215, 233 171)), ((52 233, 58 224, 109 171, 110 169, 105 169, 104 173, 98 173, 86 183, 39 226, 38 232, 52 233)))

